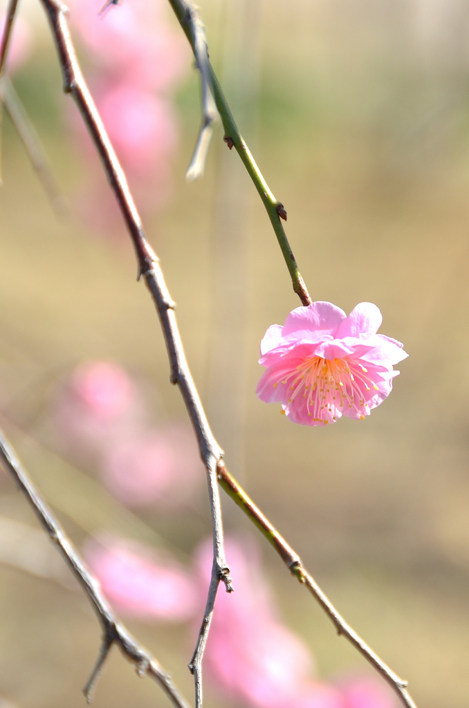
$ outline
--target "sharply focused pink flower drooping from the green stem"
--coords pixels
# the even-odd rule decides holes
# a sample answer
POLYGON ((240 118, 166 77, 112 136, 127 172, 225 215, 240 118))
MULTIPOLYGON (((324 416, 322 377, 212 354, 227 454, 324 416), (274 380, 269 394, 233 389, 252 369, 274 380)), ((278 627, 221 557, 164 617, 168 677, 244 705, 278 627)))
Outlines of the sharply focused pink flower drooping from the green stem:
POLYGON ((297 307, 261 341, 259 364, 266 371, 256 394, 281 403, 291 421, 305 426, 341 416, 363 420, 390 394, 399 374, 392 365, 407 357, 400 342, 377 334, 382 321, 371 302, 348 317, 331 302, 297 307))

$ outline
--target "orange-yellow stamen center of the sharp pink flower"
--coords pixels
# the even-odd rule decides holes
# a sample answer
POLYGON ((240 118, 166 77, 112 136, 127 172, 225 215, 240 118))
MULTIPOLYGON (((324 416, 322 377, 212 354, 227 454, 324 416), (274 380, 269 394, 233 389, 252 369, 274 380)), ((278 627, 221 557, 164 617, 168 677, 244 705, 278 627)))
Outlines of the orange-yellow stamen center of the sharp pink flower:
MULTIPOLYGON (((275 385, 278 383, 280 381, 275 385)), ((356 409, 363 420, 368 407, 365 398, 370 398, 366 392, 378 391, 378 386, 360 362, 320 356, 305 359, 281 383, 290 383, 289 404, 303 396, 308 416, 325 424, 331 417, 335 421, 337 411, 346 407, 356 409)), ((297 405, 299 403, 297 401, 297 405)))

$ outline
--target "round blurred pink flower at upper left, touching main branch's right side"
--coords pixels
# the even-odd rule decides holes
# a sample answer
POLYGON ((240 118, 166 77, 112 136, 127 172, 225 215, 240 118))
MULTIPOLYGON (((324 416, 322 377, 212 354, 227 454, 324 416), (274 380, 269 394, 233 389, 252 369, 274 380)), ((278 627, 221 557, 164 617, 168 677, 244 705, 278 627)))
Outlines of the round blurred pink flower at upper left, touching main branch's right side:
POLYGON ((95 95, 108 135, 123 166, 137 175, 167 160, 177 142, 169 100, 131 84, 112 84, 95 95))

